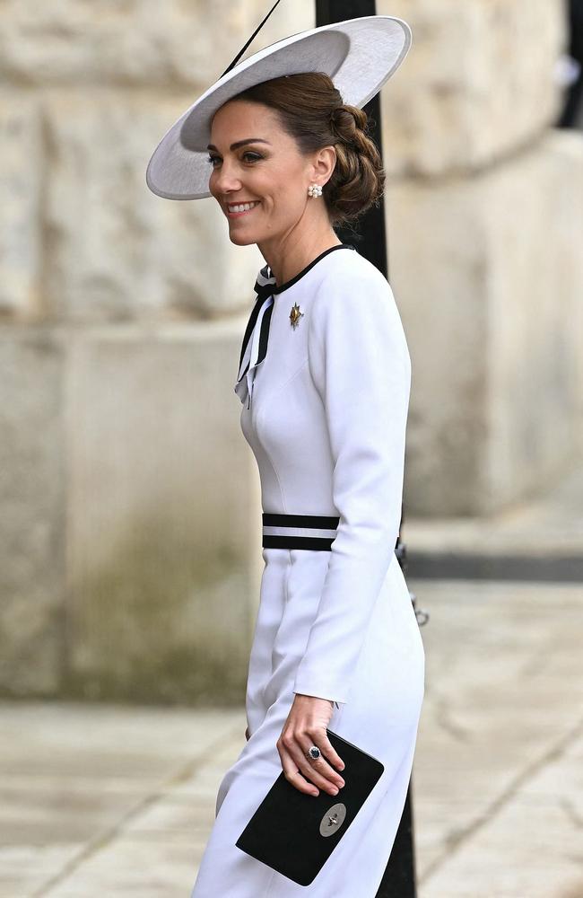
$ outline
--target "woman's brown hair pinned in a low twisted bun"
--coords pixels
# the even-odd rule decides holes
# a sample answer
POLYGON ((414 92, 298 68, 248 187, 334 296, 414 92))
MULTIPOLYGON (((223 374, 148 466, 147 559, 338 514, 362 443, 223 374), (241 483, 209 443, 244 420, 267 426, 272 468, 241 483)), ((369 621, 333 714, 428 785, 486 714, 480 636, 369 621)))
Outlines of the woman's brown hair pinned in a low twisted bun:
POLYGON ((347 224, 379 204, 385 172, 379 148, 368 131, 367 114, 345 104, 324 72, 282 75, 232 99, 263 103, 275 110, 300 153, 335 146, 335 169, 322 189, 333 225, 347 224))

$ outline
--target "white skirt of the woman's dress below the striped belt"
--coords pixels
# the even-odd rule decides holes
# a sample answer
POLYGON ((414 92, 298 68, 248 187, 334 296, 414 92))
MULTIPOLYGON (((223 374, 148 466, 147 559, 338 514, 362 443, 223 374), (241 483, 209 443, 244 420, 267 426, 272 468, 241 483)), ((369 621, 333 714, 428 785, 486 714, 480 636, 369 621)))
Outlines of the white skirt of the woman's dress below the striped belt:
MULTIPOLYGON (((318 876, 302 886, 249 857, 235 842, 282 772, 275 743, 292 707, 294 668, 327 553, 264 549, 263 554, 248 675, 250 738, 222 778, 192 898, 374 898, 405 806, 422 708, 424 653, 405 579, 395 556, 373 609, 351 700, 334 709, 328 724, 379 758, 384 773, 318 876)), ((350 776, 348 768, 343 776, 350 776)), ((337 799, 342 800, 342 789, 337 799)))

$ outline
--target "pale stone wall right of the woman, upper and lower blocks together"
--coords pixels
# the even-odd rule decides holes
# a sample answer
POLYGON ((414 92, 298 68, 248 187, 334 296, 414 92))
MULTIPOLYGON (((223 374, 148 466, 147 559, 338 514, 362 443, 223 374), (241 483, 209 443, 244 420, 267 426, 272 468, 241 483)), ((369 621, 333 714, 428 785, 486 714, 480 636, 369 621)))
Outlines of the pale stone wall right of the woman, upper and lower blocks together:
POLYGON ((413 29, 381 92, 389 277, 413 362, 405 506, 485 515, 583 445, 583 135, 554 128, 549 0, 391 0, 413 29))

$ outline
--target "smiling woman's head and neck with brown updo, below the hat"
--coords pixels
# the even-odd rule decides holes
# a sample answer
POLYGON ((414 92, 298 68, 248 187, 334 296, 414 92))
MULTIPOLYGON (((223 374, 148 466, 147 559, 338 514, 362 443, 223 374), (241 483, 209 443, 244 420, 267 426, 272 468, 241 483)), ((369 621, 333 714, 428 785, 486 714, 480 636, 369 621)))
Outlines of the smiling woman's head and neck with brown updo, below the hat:
POLYGON ((232 223, 231 241, 257 243, 279 283, 310 251, 338 243, 333 225, 360 217, 382 195, 385 173, 367 116, 343 103, 325 73, 239 93, 214 114, 211 133, 209 190, 232 223), (244 136, 249 131, 257 136, 244 136), (324 203, 310 204, 312 195, 324 203))

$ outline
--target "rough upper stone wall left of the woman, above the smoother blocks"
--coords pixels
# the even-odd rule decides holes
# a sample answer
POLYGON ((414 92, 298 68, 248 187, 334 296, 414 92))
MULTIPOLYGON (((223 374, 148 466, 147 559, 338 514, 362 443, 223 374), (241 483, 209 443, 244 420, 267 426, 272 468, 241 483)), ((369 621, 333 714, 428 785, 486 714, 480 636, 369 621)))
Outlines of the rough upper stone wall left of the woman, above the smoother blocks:
MULTIPOLYGON (((155 323, 248 304, 257 248, 231 245, 213 199, 162 200, 144 177, 154 147, 221 75, 264 5, 3 4, 4 318, 155 323)), ((283 4, 250 50, 310 27, 307 11, 283 4)))

